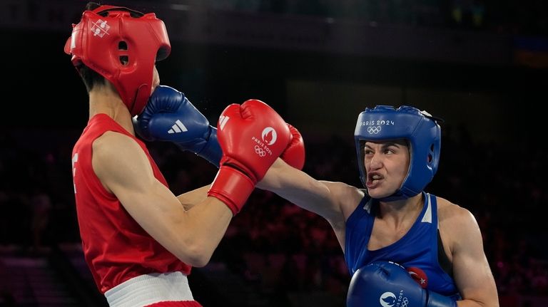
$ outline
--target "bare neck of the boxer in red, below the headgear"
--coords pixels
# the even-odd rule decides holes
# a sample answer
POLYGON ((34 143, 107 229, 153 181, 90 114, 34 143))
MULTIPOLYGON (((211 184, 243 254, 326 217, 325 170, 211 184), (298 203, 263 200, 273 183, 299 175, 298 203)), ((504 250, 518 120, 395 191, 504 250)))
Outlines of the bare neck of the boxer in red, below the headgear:
POLYGON ((101 87, 89 92, 89 118, 99 113, 108 115, 128 132, 135 135, 131 114, 116 90, 101 87))

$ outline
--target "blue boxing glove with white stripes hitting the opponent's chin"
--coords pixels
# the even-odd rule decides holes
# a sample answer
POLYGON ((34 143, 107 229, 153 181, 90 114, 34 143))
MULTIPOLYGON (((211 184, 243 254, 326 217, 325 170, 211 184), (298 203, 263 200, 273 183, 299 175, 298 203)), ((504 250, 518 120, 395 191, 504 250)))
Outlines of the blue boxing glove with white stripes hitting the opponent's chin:
POLYGON ((133 127, 145 140, 174 142, 219 167, 223 150, 217 128, 209 125, 205 116, 174 88, 158 85, 145 110, 133 118, 133 127))

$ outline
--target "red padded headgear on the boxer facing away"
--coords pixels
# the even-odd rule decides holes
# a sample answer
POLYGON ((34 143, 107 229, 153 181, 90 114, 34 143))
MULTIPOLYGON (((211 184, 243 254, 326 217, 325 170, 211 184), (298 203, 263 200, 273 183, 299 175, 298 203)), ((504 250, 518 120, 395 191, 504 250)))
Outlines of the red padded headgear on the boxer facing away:
POLYGON ((151 95, 155 61, 171 52, 163 21, 121 6, 84 11, 65 44, 72 63, 93 69, 118 90, 131 116, 143 111, 151 95))

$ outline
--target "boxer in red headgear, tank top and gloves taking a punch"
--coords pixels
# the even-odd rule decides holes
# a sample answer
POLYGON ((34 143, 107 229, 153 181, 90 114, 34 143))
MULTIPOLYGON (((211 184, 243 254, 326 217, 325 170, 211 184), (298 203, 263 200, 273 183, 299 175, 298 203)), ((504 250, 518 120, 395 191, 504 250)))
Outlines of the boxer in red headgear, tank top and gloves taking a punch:
POLYGON ((159 84, 156 61, 170 51, 154 14, 93 3, 65 45, 89 97, 88 124, 72 154, 83 253, 113 307, 201 306, 188 285, 191 267, 208 263, 246 194, 290 142, 268 105, 236 105, 244 120, 219 132, 234 144, 220 143, 225 157, 209 196, 209 186, 174 195, 132 124, 159 84), (265 130, 277 135, 268 139, 268 158, 235 145, 265 142, 265 130))

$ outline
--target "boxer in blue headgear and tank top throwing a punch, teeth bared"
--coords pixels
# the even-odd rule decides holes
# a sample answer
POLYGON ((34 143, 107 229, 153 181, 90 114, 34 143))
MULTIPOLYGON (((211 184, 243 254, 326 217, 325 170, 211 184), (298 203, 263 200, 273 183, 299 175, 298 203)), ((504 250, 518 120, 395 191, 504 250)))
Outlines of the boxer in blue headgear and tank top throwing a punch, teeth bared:
MULTIPOLYGON (((335 231, 350 274, 378 261, 405 267, 417 288, 410 288, 415 285, 409 279, 391 283, 401 281, 399 286, 405 283, 407 291, 437 298, 417 298, 422 305, 414 306, 498 306, 475 217, 425 192, 440 162, 438 122, 411 106, 379 105, 360 113, 355 144, 365 189, 317 180, 279 161, 258 187, 324 217, 335 231)), ((349 303, 379 302, 369 297, 370 283, 356 285, 350 286, 352 296, 365 297, 349 298, 349 303)), ((349 305, 355 306, 375 305, 349 305)))

